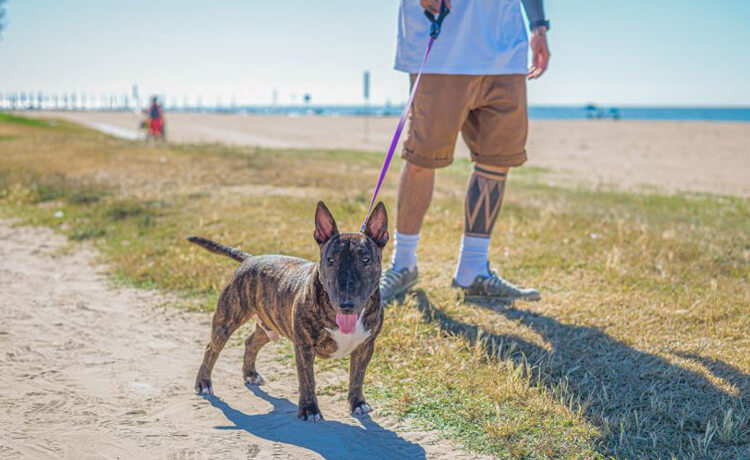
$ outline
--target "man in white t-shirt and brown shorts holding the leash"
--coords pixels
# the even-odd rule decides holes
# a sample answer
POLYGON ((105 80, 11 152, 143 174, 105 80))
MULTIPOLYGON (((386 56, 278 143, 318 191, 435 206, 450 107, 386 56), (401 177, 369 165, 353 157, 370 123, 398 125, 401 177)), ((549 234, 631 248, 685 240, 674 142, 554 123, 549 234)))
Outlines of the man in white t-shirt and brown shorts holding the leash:
MULTIPOLYGON (((491 270, 489 247, 509 169, 526 161, 526 78, 547 69, 549 21, 542 0, 451 1, 411 110, 406 160, 398 189, 393 259, 380 282, 384 302, 417 282, 417 244, 432 199, 435 169, 453 161, 459 131, 475 162, 466 191, 464 235, 452 285, 467 297, 538 300, 536 289, 514 286, 491 270), (521 3, 531 28, 529 39, 521 3)), ((396 69, 415 74, 430 29, 423 9, 440 0, 401 0, 396 69)))

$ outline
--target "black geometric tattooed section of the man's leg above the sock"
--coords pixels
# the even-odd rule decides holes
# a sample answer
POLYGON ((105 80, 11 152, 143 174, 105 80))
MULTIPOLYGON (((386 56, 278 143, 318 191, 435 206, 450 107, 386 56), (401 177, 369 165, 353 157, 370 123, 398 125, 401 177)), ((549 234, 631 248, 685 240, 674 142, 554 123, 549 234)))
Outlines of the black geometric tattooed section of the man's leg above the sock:
POLYGON ((506 173, 476 165, 466 191, 464 231, 469 236, 488 237, 492 233, 505 193, 506 173))

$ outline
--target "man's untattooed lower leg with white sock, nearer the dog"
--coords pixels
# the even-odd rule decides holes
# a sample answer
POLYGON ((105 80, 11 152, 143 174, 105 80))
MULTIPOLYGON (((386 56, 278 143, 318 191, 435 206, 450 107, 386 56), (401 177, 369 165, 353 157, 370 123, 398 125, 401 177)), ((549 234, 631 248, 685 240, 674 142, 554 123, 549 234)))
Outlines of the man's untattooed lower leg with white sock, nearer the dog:
POLYGON ((422 221, 432 200, 435 170, 404 162, 398 185, 398 213, 392 268, 413 270, 417 266, 417 245, 422 221))

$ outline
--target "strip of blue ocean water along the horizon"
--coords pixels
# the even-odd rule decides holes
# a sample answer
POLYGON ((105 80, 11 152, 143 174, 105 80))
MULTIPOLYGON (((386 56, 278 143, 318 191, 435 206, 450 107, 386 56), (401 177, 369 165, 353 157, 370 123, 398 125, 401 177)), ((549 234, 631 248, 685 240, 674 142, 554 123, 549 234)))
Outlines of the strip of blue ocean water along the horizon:
MULTIPOLYGON (((206 111, 279 115, 399 115, 402 105, 288 105, 208 108, 206 111)), ((179 109, 178 109, 179 110, 179 109)), ((529 117, 536 120, 701 120, 750 122, 750 107, 594 107, 594 106, 530 106, 529 117)))

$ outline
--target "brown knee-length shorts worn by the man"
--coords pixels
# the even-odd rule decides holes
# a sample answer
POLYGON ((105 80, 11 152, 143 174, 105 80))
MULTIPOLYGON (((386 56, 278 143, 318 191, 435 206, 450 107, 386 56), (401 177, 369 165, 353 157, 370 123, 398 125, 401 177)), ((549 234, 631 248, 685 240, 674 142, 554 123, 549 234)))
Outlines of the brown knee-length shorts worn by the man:
POLYGON ((417 166, 451 164, 459 131, 473 161, 522 165, 528 129, 526 76, 422 75, 409 120, 401 156, 417 166))

